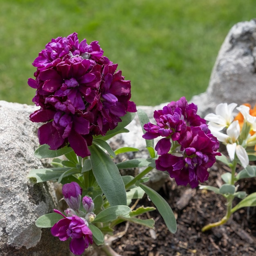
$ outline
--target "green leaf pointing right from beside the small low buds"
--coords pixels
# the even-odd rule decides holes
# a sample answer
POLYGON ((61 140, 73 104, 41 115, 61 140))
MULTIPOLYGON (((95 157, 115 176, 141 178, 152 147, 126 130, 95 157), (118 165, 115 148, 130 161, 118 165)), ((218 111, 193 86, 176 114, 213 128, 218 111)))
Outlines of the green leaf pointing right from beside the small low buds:
POLYGON ((125 216, 130 213, 130 211, 131 209, 127 205, 115 205, 98 213, 93 222, 109 222, 116 220, 118 216, 125 216))

